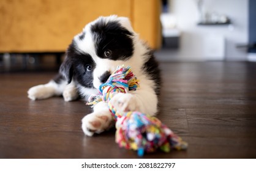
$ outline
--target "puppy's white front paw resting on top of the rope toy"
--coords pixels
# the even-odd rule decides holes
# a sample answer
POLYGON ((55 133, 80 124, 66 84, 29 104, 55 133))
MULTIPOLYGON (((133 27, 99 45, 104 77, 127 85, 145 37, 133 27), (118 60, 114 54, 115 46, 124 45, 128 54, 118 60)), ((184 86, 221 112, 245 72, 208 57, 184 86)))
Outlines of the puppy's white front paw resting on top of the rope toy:
POLYGON ((135 95, 130 93, 117 93, 110 103, 118 112, 140 111, 135 95))

